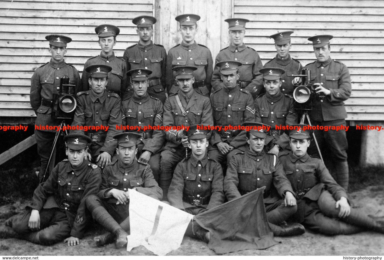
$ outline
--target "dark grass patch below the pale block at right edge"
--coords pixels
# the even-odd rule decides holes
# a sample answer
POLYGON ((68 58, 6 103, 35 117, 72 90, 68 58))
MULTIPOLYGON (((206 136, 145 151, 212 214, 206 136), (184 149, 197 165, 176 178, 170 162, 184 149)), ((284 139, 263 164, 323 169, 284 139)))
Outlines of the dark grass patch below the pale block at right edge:
MULTIPOLYGON (((349 169, 350 192, 377 185, 384 185, 384 165, 354 166, 349 169)), ((382 187, 377 188, 384 189, 382 187)))

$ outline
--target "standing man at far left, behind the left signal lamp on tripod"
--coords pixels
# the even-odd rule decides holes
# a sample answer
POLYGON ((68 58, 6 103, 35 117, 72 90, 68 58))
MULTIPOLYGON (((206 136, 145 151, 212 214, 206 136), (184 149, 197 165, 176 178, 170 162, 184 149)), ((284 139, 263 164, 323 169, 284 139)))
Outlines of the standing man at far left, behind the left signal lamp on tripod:
MULTIPOLYGON (((61 120, 51 118, 52 96, 60 92, 61 77, 68 77, 69 83, 76 85, 77 90, 81 87, 81 79, 79 72, 72 65, 64 61, 67 43, 70 43, 72 39, 58 34, 47 35, 45 39, 49 41, 50 47, 48 51, 51 53, 52 58, 48 63, 38 67, 33 73, 31 77, 30 102, 32 109, 37 115, 35 124, 43 127, 46 125, 52 127, 59 126, 61 123, 61 120)), ((55 129, 35 129, 37 153, 40 156, 40 179, 48 167, 55 135, 55 129)), ((54 150, 52 158, 55 158, 55 154, 56 150, 54 150)), ((48 174, 54 165, 55 161, 53 160, 48 168, 48 174)))

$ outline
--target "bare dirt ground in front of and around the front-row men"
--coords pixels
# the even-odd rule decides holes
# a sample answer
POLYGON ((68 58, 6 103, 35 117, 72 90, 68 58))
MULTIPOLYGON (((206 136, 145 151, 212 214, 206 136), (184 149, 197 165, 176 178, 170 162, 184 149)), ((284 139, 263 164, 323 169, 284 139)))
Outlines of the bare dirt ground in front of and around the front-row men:
MULTIPOLYGON (((384 216, 384 186, 369 186, 362 191, 349 194, 354 208, 374 217, 384 216)), ((18 201, 0 207, 0 224, 14 212, 22 212, 28 201, 18 201)), ((383 218, 380 218, 383 219, 383 218)), ((68 247, 66 244, 41 246, 18 239, 0 239, 0 255, 153 255, 145 247, 137 247, 127 252, 118 250, 114 244, 96 247, 93 237, 96 230, 89 231, 81 244, 68 247)), ((304 235, 280 238, 265 250, 243 250, 227 255, 384 255, 384 234, 366 231, 354 235, 326 236, 307 230, 304 235)), ((184 237, 181 247, 168 255, 215 255, 204 242, 184 237)))

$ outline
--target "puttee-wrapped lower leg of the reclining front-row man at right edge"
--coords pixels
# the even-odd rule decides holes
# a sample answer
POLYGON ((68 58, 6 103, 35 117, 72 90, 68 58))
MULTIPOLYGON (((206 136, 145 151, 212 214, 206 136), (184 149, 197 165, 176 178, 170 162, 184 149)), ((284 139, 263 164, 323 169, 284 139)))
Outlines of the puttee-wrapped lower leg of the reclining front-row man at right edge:
POLYGON ((364 213, 353 208, 351 208, 351 213, 348 217, 340 218, 340 220, 347 222, 348 224, 384 234, 384 221, 372 219, 371 217, 368 217, 364 213))

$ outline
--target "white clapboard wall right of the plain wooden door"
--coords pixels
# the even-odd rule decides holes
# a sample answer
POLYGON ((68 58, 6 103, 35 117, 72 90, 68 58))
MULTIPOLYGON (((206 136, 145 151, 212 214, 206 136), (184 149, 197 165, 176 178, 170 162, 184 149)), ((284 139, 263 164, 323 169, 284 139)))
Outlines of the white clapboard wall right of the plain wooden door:
POLYGON ((234 0, 234 17, 247 18, 245 43, 263 64, 276 55, 266 36, 293 30, 290 54, 303 66, 316 59, 313 35, 330 34, 331 58, 349 68, 351 97, 347 120, 384 120, 384 1, 369 0, 234 0), (268 4, 271 5, 268 5, 268 4))

